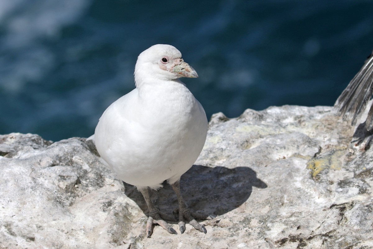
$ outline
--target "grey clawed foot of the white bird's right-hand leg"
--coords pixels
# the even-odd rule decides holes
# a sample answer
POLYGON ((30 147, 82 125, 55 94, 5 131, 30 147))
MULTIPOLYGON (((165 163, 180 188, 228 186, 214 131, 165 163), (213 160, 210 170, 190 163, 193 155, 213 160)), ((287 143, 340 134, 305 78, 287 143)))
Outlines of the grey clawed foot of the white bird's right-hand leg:
POLYGON ((213 215, 208 214, 198 214, 195 212, 191 212, 189 208, 178 208, 175 210, 175 213, 179 214, 179 229, 180 232, 183 234, 185 232, 185 219, 189 221, 189 224, 192 225, 195 229, 202 233, 207 233, 206 228, 204 225, 200 224, 197 220, 212 220, 215 218, 213 215))

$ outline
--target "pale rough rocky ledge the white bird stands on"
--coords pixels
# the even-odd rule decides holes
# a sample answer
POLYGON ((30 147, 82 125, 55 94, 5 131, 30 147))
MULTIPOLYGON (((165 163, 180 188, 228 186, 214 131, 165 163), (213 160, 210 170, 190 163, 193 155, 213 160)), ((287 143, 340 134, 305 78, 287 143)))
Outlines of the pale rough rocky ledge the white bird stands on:
MULTIPOLYGON (((0 136, 0 248, 373 248, 373 149, 331 107, 213 115, 181 179, 192 210, 215 214, 184 234, 154 227, 146 204, 84 138, 0 136)), ((166 184, 151 193, 172 212, 166 184)), ((178 231, 177 222, 171 222, 178 231)))

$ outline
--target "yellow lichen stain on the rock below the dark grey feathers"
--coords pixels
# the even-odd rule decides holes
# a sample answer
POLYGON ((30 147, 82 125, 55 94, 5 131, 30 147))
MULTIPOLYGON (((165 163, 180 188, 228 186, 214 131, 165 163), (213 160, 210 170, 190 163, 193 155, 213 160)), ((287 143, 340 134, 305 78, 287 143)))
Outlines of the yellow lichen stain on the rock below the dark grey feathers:
POLYGON ((345 155, 345 150, 332 150, 326 155, 313 158, 307 162, 307 169, 311 169, 312 177, 316 177, 323 169, 330 168, 340 170, 342 168, 342 156, 345 155))

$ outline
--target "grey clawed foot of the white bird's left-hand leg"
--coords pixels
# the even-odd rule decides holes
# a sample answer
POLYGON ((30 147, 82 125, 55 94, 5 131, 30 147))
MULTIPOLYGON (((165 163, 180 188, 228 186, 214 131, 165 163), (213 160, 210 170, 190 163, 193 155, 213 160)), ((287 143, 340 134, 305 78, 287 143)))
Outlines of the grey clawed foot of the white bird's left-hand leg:
POLYGON ((146 222, 146 236, 150 238, 151 234, 153 233, 153 225, 158 224, 161 227, 163 227, 167 232, 171 234, 178 234, 175 229, 171 227, 170 224, 168 224, 164 220, 169 221, 177 221, 173 215, 166 214, 162 211, 159 211, 158 209, 155 209, 149 213, 148 221, 146 222), (161 218, 162 217, 162 218, 161 218))

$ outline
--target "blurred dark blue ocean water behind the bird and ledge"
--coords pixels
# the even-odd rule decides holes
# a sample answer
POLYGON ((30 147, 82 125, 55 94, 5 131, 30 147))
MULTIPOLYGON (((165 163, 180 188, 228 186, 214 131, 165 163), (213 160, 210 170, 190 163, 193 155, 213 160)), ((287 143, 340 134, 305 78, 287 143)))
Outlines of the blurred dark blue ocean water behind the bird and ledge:
POLYGON ((0 1, 0 134, 88 137, 134 88, 137 56, 178 48, 207 117, 333 105, 373 49, 373 2, 0 1))

